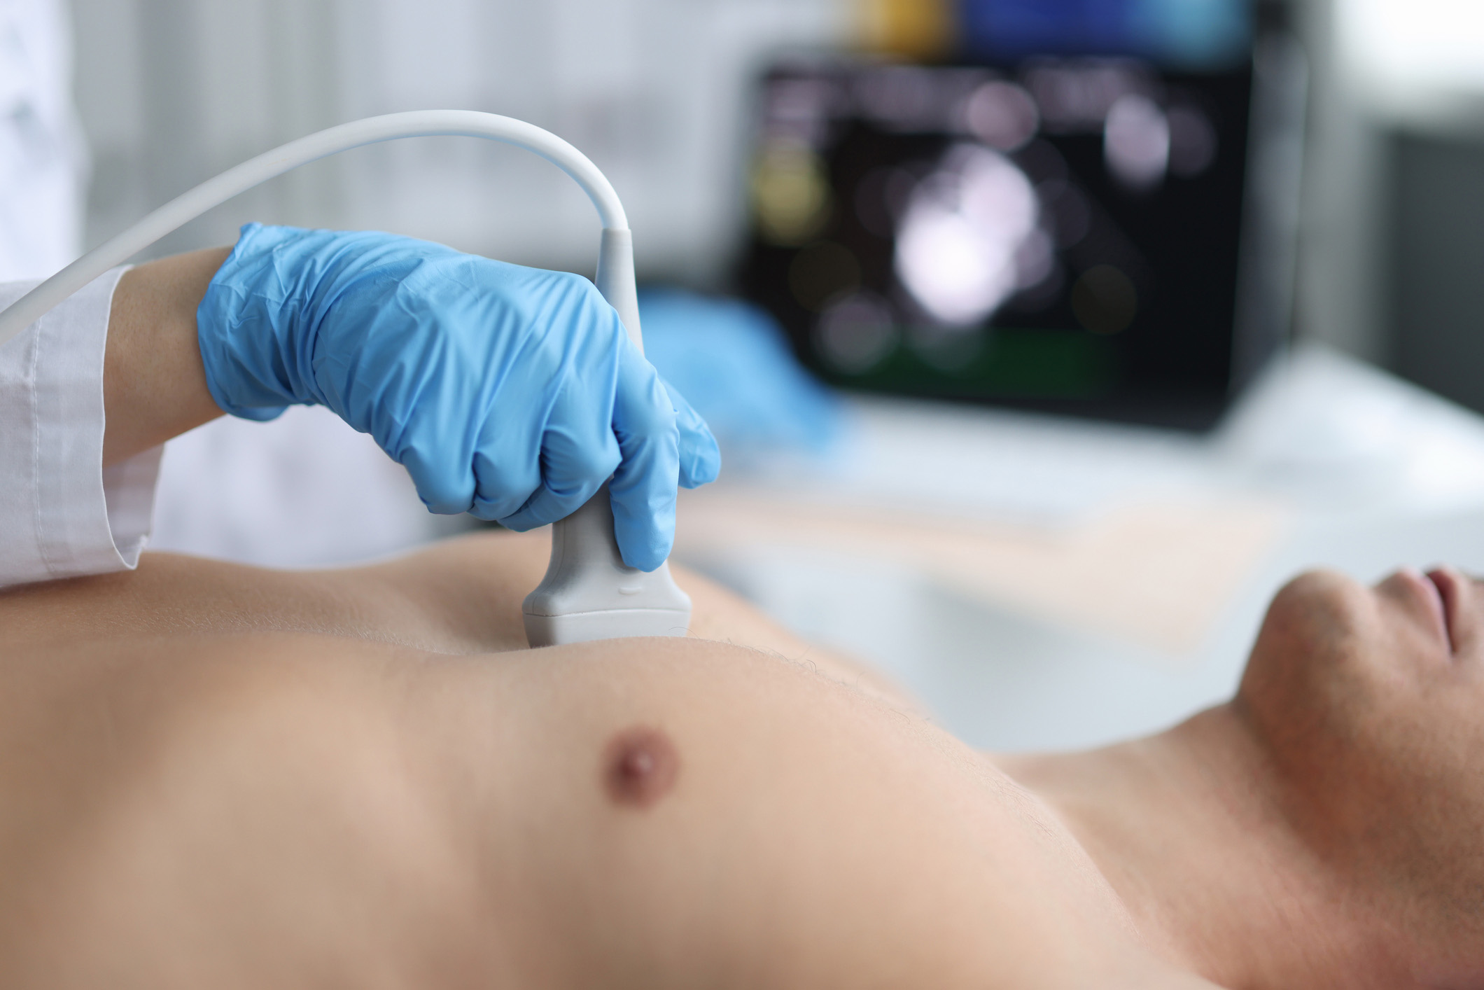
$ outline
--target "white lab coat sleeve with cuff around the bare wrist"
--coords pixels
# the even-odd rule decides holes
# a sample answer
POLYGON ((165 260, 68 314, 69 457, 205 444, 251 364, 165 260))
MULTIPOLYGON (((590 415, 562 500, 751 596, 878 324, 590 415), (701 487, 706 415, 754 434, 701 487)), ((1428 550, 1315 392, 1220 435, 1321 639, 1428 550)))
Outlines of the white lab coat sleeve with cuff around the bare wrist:
MULTIPOLYGON (((0 585, 132 568, 160 448, 102 466, 114 269, 0 346, 0 585)), ((34 283, 0 283, 0 307, 34 283)))

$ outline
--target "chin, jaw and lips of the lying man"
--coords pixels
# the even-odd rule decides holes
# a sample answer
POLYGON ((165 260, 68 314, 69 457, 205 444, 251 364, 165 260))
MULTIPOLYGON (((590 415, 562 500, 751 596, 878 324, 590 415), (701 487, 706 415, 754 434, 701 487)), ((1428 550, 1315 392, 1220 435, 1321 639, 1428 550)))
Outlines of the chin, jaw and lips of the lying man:
POLYGON ((1233 711, 1294 833, 1425 986, 1484 978, 1484 589, 1331 573, 1273 600, 1233 711))

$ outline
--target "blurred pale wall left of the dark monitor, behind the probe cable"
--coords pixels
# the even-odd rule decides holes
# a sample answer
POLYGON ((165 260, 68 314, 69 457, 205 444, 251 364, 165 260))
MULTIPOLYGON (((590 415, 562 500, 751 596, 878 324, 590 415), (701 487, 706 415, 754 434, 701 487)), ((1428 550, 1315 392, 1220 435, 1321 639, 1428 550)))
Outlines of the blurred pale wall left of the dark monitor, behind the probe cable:
MULTIPOLYGON (((749 80, 831 45, 850 0, 71 0, 93 144, 89 243, 275 144, 457 107, 522 117, 613 180, 641 272, 714 281, 742 220, 749 80)), ((591 205, 525 153, 436 138, 350 151, 214 211, 157 254, 246 220, 377 227, 586 270, 591 205)))

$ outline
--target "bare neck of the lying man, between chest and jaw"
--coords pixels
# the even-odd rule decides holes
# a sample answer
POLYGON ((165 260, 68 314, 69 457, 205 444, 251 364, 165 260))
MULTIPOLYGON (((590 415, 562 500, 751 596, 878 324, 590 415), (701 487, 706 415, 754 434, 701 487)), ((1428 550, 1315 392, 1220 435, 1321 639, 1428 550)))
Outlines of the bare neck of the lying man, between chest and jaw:
POLYGON ((1011 757, 1128 904, 1150 948, 1226 987, 1402 987, 1382 923, 1288 828, 1230 707, 1092 753, 1011 757))

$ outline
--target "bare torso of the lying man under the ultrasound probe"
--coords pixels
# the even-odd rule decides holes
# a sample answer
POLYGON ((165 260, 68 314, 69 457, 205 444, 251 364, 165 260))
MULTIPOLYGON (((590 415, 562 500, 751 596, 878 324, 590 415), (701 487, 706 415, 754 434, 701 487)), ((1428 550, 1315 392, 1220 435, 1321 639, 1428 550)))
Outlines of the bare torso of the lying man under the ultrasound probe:
POLYGON ((0 986, 1165 986, 971 750, 807 658, 515 650, 528 571, 0 595, 0 986))

